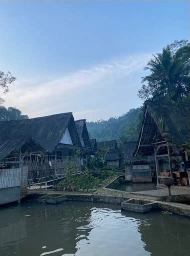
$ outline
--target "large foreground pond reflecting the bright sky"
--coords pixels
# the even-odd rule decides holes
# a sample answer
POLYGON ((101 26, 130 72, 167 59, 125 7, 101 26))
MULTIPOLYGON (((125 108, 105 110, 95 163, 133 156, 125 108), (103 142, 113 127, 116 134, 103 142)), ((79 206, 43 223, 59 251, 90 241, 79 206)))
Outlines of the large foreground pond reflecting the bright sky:
POLYGON ((189 256, 190 219, 114 204, 27 201, 0 207, 0 256, 9 255, 189 256))

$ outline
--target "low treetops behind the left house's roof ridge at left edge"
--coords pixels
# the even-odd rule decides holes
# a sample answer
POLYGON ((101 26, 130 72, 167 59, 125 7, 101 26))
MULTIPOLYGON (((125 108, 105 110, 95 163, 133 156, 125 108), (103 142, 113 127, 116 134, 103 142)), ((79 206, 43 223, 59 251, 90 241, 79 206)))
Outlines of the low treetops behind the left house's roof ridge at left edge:
POLYGON ((5 120, 20 120, 27 119, 26 114, 21 114, 21 111, 15 107, 6 107, 0 106, 0 121, 5 120))

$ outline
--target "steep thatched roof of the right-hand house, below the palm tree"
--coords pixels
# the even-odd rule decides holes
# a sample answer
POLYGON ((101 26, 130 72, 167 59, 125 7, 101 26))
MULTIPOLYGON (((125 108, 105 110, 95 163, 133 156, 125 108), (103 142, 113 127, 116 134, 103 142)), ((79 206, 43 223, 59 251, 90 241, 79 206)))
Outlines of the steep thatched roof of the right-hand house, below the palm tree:
POLYGON ((151 143, 167 141, 178 148, 190 148, 190 105, 164 99, 145 101, 137 152, 151 154, 151 143), (147 146, 146 146, 147 145, 147 146))

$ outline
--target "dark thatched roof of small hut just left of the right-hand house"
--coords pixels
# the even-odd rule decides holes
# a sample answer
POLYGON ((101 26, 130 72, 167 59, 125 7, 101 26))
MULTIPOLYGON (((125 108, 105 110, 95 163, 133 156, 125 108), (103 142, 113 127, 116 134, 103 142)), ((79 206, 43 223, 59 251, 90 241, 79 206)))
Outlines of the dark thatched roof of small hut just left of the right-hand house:
POLYGON ((127 164, 147 164, 155 163, 154 156, 151 155, 137 155, 135 156, 135 149, 138 141, 127 141, 124 143, 124 162, 127 164))

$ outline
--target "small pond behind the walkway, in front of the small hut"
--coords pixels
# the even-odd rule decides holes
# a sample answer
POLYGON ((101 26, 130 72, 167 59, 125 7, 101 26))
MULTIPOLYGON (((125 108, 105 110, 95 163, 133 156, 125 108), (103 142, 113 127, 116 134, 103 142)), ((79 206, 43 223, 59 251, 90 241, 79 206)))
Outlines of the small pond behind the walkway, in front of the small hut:
POLYGON ((123 179, 118 178, 107 186, 108 188, 122 190, 126 192, 136 192, 144 190, 155 190, 157 188, 156 183, 127 183, 123 179))

